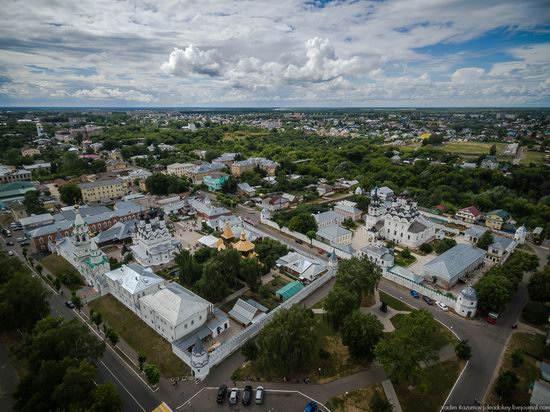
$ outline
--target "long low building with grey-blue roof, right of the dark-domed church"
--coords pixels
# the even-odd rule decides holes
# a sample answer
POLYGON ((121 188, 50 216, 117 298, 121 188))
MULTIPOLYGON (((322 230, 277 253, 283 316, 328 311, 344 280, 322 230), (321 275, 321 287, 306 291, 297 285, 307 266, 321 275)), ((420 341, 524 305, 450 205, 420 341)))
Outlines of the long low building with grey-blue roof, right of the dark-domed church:
POLYGON ((478 247, 458 244, 424 265, 422 276, 427 282, 449 289, 459 279, 483 265, 485 251, 478 247))

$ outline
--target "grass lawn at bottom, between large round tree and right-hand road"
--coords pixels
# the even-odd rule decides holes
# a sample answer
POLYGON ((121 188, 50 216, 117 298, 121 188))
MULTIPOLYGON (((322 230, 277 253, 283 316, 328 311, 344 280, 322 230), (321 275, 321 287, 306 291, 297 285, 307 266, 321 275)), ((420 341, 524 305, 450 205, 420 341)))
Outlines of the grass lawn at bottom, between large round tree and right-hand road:
POLYGON ((424 370, 429 385, 427 391, 422 391, 420 385, 409 389, 408 382, 394 384, 403 411, 439 412, 463 367, 464 362, 460 360, 450 360, 428 366, 424 370))

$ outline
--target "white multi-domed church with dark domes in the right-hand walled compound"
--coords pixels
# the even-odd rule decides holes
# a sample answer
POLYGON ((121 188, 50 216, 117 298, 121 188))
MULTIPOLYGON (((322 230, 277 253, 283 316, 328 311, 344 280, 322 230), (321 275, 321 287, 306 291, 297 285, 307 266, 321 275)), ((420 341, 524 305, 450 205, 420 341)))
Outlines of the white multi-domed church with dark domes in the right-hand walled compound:
POLYGON ((435 238, 434 223, 420 215, 416 202, 408 193, 382 200, 378 191, 374 189, 363 227, 371 243, 382 238, 418 249, 435 238))

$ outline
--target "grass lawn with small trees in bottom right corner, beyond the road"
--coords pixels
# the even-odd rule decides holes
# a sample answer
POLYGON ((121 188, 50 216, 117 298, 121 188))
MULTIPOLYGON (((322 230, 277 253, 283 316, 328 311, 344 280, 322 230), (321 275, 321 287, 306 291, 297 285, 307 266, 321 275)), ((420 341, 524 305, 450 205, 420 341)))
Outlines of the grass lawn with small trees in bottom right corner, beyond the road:
POLYGON ((519 383, 514 392, 508 399, 500 399, 500 396, 495 393, 495 387, 491 388, 489 397, 487 398, 490 404, 516 404, 529 405, 529 385, 538 377, 539 368, 537 361, 540 361, 544 352, 544 335, 531 334, 524 332, 516 332, 510 338, 510 342, 506 347, 504 359, 500 367, 499 374, 504 371, 512 371, 519 378, 519 383), (524 352, 523 364, 514 367, 512 364, 512 353, 516 349, 521 349, 524 352))

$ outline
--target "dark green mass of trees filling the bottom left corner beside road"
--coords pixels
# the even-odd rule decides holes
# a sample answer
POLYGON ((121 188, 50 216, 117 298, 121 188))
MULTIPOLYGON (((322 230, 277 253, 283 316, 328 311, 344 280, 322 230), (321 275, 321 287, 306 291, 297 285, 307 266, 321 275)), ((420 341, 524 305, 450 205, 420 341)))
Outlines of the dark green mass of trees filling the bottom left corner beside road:
POLYGON ((23 335, 16 355, 28 365, 14 409, 119 411, 115 387, 95 384, 105 344, 76 320, 48 316, 48 292, 19 259, 1 251, 0 267, 0 330, 23 335))

